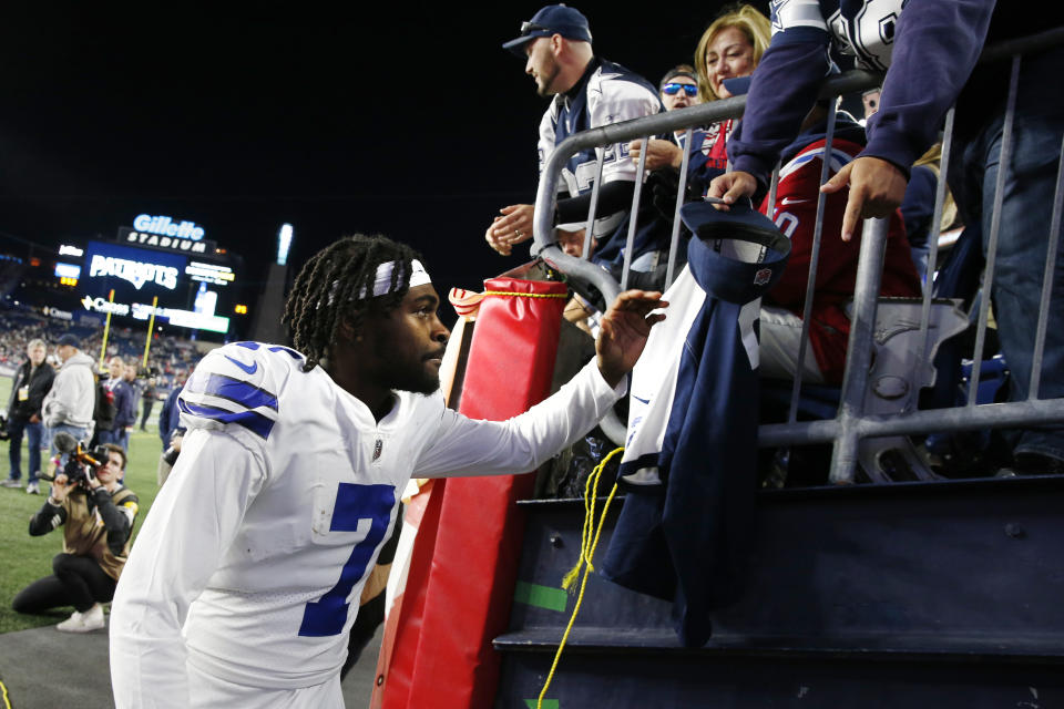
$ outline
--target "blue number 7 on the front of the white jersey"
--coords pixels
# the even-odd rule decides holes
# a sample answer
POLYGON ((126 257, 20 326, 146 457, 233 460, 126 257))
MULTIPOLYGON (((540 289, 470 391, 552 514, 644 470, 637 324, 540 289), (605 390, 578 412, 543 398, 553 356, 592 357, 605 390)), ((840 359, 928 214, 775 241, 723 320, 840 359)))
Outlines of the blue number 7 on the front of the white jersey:
POLYGON ((369 559, 391 520, 391 508, 396 505, 395 485, 356 485, 340 483, 336 492, 336 507, 332 510, 330 532, 355 532, 360 520, 369 520, 369 533, 355 545, 351 555, 344 564, 340 580, 319 600, 308 603, 303 610, 303 625, 299 635, 323 637, 339 635, 347 623, 347 596, 358 579, 366 573, 369 559))

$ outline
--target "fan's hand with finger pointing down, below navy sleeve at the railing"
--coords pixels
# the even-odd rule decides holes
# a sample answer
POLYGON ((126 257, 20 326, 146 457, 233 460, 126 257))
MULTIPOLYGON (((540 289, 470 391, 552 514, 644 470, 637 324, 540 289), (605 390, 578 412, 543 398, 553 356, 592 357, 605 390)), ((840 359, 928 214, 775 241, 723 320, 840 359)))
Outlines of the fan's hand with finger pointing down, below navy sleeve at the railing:
POLYGON ((891 163, 879 157, 858 157, 847 163, 820 192, 832 194, 850 186, 842 216, 842 240, 853 238, 860 219, 889 217, 906 198, 906 175, 891 163))

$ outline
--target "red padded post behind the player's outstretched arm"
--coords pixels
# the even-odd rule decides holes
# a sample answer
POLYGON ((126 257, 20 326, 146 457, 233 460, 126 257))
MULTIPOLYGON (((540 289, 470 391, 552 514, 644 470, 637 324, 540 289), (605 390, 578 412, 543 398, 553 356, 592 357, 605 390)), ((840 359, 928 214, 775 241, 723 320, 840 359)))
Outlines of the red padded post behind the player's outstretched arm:
MULTIPOLYGON (((550 393, 566 288, 511 278, 484 286, 490 295, 477 318, 459 411, 504 420, 550 393)), ((507 628, 524 533, 514 502, 530 496, 534 482, 531 474, 451 479, 443 495, 433 490, 429 507, 440 501, 439 524, 431 541, 422 540, 427 511, 405 599, 417 593, 415 568, 424 562, 418 548, 424 542, 431 568, 423 605, 412 618, 403 604, 385 709, 492 705, 500 662, 491 640, 507 628)))

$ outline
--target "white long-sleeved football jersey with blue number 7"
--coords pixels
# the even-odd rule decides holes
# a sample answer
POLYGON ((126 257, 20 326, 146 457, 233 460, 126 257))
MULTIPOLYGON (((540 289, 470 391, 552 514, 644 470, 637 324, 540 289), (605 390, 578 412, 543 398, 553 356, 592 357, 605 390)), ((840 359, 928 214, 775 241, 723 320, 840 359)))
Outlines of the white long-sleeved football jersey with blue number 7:
POLYGON ((183 706, 186 660, 252 687, 327 681, 411 475, 534 469, 618 398, 592 362, 507 422, 469 420, 439 392, 396 392, 378 422, 304 362, 239 342, 207 354, 185 386, 188 434, 115 594, 119 707, 183 706))

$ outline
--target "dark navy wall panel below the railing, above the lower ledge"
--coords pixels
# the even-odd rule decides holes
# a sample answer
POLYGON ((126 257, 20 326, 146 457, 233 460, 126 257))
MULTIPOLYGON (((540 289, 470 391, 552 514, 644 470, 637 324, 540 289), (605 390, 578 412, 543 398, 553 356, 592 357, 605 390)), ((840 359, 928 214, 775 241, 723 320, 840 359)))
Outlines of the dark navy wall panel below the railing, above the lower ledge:
MULTIPOLYGON (((1064 657, 1062 491, 1062 479, 1023 479, 763 494, 747 593, 715 614, 709 646, 784 638, 810 649, 867 643, 932 654, 1056 647, 1064 657)), ((611 510, 600 562, 622 505, 611 510)), ((577 561, 583 501, 522 507, 528 526, 509 630, 556 631, 575 603, 560 586, 577 561)), ((667 600, 592 575, 576 628, 665 638, 671 610, 667 600)))

